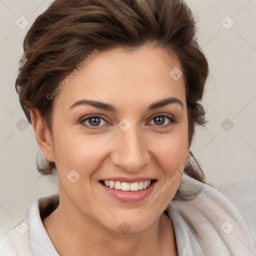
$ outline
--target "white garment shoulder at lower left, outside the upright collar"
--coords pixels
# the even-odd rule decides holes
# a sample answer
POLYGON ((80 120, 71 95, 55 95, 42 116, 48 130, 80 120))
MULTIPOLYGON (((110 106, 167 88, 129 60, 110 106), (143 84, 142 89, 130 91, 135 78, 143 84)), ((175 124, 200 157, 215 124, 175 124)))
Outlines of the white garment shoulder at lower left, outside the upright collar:
POLYGON ((27 216, 0 237, 0 256, 33 256, 30 247, 27 216))

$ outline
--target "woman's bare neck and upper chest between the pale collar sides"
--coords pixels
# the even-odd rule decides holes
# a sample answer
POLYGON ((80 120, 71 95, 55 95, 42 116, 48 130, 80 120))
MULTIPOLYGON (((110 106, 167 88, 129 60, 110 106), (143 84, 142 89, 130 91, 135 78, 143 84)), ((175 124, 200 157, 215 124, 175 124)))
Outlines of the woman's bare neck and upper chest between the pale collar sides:
POLYGON ((162 213, 146 230, 109 230, 59 198, 58 207, 42 220, 59 255, 177 255, 173 226, 162 213), (71 217, 70 217, 71 216, 71 217), (67 242, 68 241, 68 242, 67 242))

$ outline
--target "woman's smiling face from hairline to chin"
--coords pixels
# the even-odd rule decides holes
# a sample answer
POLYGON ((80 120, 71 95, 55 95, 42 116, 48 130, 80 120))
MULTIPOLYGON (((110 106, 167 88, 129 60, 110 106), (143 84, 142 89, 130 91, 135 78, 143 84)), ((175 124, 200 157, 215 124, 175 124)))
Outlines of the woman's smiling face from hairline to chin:
POLYGON ((70 215, 137 232, 167 207, 188 150, 184 79, 169 75, 174 67, 160 48, 98 52, 55 96, 48 160, 70 215))

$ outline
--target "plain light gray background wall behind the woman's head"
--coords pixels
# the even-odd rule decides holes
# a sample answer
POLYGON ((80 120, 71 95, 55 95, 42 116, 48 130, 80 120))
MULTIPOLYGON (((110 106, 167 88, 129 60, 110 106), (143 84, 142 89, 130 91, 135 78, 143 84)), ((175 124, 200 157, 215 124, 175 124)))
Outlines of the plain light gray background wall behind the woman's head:
MULTIPOLYGON (((0 0, 0 235, 36 198, 57 191, 53 181, 37 173, 39 147, 32 126, 23 131, 16 126, 25 115, 14 89, 25 33, 51 2, 0 0), (24 29, 15 23, 21 15, 29 21, 24 29)), ((255 182, 256 0, 187 2, 198 19, 198 41, 210 67, 203 100, 209 123, 197 129, 192 151, 201 152, 208 181, 255 182)))

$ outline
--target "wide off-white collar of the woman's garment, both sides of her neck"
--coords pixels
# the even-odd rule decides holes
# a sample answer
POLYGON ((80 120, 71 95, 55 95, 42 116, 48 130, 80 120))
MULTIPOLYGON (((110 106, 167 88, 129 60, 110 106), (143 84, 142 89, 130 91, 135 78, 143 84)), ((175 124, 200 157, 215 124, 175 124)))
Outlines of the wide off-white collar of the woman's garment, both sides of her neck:
MULTIPOLYGON (((194 188, 201 191, 192 199, 175 199, 167 207, 178 255, 255 256, 252 237, 235 206, 217 190, 183 173, 179 190, 189 194, 194 188)), ((29 209, 27 221, 34 255, 59 256, 41 220, 57 207, 58 198, 58 193, 40 197, 29 209)))

